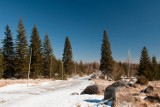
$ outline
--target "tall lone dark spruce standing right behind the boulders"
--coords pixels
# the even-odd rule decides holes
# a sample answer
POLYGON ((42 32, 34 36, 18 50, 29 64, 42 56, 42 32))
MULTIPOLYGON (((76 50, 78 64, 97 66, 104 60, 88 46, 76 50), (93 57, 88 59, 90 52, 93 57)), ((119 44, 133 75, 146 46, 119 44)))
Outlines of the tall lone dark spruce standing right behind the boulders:
POLYGON ((101 59, 100 59, 100 70, 107 78, 113 71, 113 58, 112 52, 110 48, 110 42, 108 38, 108 34, 104 31, 102 47, 101 47, 101 59))

